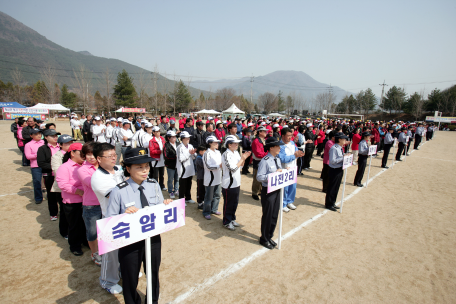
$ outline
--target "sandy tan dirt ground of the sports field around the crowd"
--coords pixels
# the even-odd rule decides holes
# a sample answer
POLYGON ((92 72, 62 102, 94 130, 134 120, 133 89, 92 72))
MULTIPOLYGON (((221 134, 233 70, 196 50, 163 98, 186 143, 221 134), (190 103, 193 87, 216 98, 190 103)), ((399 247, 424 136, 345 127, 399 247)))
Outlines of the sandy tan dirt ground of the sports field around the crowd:
MULTIPOLYGON (((58 222, 49 219, 47 201, 34 203, 30 168, 21 166, 10 123, 0 122, 6 173, 0 185, 1 302, 123 303, 122 295, 101 289, 100 268, 88 248, 81 257, 69 252, 58 222)), ((67 122, 57 129, 71 134, 67 122)), ((342 214, 326 213, 286 239, 281 250, 268 251, 183 303, 456 302, 455 150, 456 133, 439 132, 353 195, 342 214)), ((324 210, 321 158, 311 166, 298 177, 298 208, 284 214, 284 234, 324 210)), ((380 159, 373 159, 370 177, 380 171, 380 159)), ((355 173, 355 166, 348 169, 346 196, 358 189, 355 173)), ((236 231, 223 228, 220 216, 205 220, 189 205, 186 225, 162 235, 160 303, 262 249, 261 206, 250 196, 251 182, 251 175, 242 176, 242 227, 236 231)), ((196 184, 192 195, 196 199, 196 184)), ((145 276, 138 289, 145 294, 145 276)))

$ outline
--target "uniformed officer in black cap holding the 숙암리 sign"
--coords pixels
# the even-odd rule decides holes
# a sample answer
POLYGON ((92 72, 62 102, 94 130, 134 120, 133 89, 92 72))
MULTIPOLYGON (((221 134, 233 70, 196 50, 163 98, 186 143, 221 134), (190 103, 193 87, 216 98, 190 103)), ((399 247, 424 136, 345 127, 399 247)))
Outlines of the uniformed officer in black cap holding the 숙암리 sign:
MULTIPOLYGON (((148 178, 150 170, 149 163, 152 160, 149 157, 149 151, 144 148, 130 149, 125 152, 123 163, 125 168, 124 175, 130 176, 130 179, 118 184, 112 190, 109 196, 106 217, 123 213, 133 214, 142 208, 171 203, 170 199, 163 199, 163 194, 157 181, 148 178)), ((144 228, 146 230, 155 228, 155 216, 152 212, 150 216, 141 217, 140 223, 143 225, 143 232, 144 228)), ((112 229, 114 239, 128 238, 130 237, 130 233, 136 233, 136 231, 129 231, 129 224, 122 222, 112 229)), ((160 294, 158 272, 161 262, 160 235, 151 237, 150 243, 152 273, 146 273, 146 275, 152 276, 153 303, 158 303, 160 294)), ((119 248, 120 273, 122 274, 123 294, 126 304, 141 303, 141 298, 136 288, 138 286, 138 273, 141 269, 141 264, 144 262, 146 267, 145 246, 145 241, 142 240, 119 248)))

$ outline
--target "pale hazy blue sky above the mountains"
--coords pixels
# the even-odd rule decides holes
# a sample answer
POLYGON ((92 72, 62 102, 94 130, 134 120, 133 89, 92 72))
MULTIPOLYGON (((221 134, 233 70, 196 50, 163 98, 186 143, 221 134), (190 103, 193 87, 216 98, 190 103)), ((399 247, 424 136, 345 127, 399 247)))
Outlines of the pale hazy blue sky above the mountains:
POLYGON ((192 80, 303 71, 357 92, 456 84, 456 1, 48 1, 0 10, 74 51, 192 80))

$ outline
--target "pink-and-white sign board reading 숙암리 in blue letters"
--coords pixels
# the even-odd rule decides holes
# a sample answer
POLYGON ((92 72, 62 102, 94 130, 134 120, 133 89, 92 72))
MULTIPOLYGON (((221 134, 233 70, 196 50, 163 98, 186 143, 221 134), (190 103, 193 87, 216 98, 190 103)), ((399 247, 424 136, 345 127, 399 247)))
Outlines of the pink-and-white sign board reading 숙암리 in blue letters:
POLYGON ((98 253, 104 254, 185 225, 185 199, 97 220, 98 253))

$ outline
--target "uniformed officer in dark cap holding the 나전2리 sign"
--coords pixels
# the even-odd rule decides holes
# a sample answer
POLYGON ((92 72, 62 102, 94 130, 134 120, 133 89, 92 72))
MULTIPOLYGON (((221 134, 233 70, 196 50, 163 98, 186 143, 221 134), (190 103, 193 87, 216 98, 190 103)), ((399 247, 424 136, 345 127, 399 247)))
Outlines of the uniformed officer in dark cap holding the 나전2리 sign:
POLYGON ((282 163, 280 162, 279 153, 280 146, 283 142, 278 141, 274 137, 266 139, 265 149, 268 154, 258 164, 258 172, 256 179, 262 184, 261 188, 261 208, 263 216, 261 217, 261 237, 260 244, 268 249, 273 249, 277 246, 272 240, 274 230, 277 225, 280 206, 280 189, 268 193, 268 175, 274 172, 282 171, 282 163))

